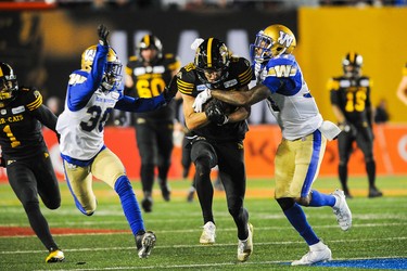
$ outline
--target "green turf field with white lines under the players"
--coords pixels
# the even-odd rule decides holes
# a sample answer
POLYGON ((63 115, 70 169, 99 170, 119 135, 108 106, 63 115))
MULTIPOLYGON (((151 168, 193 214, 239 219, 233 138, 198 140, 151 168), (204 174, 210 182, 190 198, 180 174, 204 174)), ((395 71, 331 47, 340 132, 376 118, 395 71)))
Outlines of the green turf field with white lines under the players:
MULTIPOLYGON (((327 270, 327 267, 288 266, 300 259, 307 246, 272 199, 272 180, 249 180, 245 207, 254 225, 254 253, 244 263, 237 262, 237 231, 224 193, 216 192, 214 201, 216 245, 204 246, 199 244, 202 218, 198 199, 186 201, 190 182, 174 180, 170 184, 171 202, 163 202, 160 191, 155 191, 153 212, 143 214, 148 230, 157 235, 149 259, 137 257, 118 198, 107 185, 94 183, 98 210, 86 217, 76 209, 62 182, 61 208, 42 210, 52 230, 65 232, 55 234, 55 240, 66 261, 44 263, 47 251, 36 236, 0 236, 0 270, 327 270), (82 230, 90 232, 77 233, 82 230), (97 230, 116 232, 92 233, 97 230)), ((328 193, 336 186, 335 178, 320 178, 314 185, 328 193)), ((330 246, 333 259, 407 258, 407 177, 378 178, 378 186, 384 193, 382 198, 366 197, 366 178, 352 178, 349 186, 355 195, 348 201, 354 218, 351 231, 340 230, 329 207, 305 209, 317 234, 330 246)), ((133 182, 133 188, 141 198, 140 183, 133 182)), ((8 183, 0 184, 0 235, 14 228, 29 227, 8 183)))

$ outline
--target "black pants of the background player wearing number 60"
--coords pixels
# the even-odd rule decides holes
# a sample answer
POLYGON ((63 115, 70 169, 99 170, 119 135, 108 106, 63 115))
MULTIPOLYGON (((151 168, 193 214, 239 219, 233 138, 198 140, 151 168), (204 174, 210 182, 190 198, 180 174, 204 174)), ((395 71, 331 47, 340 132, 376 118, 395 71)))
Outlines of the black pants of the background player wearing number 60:
POLYGON ((173 153, 173 121, 147 120, 136 125, 136 139, 141 157, 141 184, 145 193, 153 190, 154 169, 158 168, 158 179, 162 184, 167 183, 167 175, 173 153))

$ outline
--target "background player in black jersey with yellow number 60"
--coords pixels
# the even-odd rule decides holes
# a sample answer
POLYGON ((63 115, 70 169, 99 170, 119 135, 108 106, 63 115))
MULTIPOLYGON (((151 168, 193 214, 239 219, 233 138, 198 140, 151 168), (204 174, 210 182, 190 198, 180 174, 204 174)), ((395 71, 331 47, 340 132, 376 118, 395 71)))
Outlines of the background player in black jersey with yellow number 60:
MULTIPOLYGON (((180 68, 174 54, 163 54, 163 46, 154 35, 145 35, 138 44, 138 55, 130 56, 126 66, 126 92, 136 98, 156 96, 164 91, 180 68)), ((136 139, 141 157, 140 178, 144 198, 141 206, 152 211, 154 170, 163 198, 170 199, 167 175, 173 153, 174 102, 162 108, 135 114, 136 139)))

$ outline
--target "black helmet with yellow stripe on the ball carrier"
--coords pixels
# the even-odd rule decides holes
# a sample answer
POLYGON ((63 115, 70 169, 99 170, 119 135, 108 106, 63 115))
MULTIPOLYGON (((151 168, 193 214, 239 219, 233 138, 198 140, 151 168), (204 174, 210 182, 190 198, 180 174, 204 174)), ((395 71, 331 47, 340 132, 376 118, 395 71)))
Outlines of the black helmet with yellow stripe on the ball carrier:
POLYGON ((205 39, 196 49, 194 64, 198 76, 207 85, 216 85, 225 80, 228 75, 230 51, 226 44, 216 38, 205 39), (216 81, 209 82, 206 73, 220 72, 216 81))

